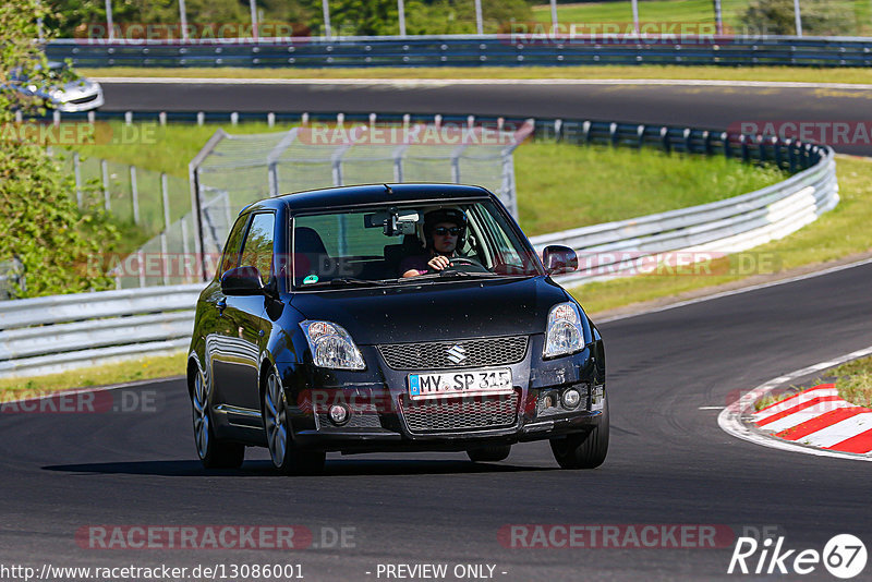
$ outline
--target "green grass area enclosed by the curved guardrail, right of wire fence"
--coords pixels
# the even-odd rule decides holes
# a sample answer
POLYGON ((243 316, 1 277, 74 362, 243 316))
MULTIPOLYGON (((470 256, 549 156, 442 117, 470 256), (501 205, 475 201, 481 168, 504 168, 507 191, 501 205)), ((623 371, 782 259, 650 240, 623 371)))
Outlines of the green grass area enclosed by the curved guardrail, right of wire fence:
POLYGON ((553 143, 519 147, 514 171, 529 235, 705 204, 786 177, 722 157, 553 143))

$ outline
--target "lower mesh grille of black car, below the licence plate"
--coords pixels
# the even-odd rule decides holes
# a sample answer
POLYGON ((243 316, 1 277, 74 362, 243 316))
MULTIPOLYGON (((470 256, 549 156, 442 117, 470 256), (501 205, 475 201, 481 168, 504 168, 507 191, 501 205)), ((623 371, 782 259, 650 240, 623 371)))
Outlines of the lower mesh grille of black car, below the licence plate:
POLYGON ((518 391, 416 401, 403 396, 400 408, 409 431, 417 434, 507 428, 518 419, 518 391))

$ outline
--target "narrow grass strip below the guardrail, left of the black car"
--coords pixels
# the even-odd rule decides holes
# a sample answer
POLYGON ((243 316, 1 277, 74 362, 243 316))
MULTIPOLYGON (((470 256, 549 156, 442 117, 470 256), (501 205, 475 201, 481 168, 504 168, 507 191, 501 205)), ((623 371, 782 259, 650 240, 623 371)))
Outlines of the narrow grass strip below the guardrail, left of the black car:
POLYGON ((179 352, 172 355, 131 360, 125 362, 124 365, 106 364, 46 376, 3 378, 0 379, 0 402, 38 397, 71 388, 182 376, 184 375, 185 361, 186 354, 179 352))

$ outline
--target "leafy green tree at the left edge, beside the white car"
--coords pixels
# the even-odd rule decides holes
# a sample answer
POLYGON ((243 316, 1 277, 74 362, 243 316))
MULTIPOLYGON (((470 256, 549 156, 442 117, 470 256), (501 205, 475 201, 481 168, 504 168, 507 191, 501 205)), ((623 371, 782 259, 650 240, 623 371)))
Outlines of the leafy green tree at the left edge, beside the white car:
MULTIPOLYGON (((0 125, 15 125, 15 111, 44 110, 38 98, 15 89, 28 84, 56 83, 49 77, 45 53, 34 39, 37 19, 46 15, 39 0, 7 0, 0 5, 3 50, 0 51, 0 125)), ((72 75, 72 73, 65 73, 72 75)), ((14 132, 5 132, 9 136, 14 132)), ((20 135, 20 134, 17 134, 20 135)), ((100 210, 81 211, 65 174, 45 147, 14 138, 0 142, 0 262, 17 259, 25 284, 17 296, 99 290, 111 279, 90 269, 93 258, 111 250, 117 231, 100 210)))

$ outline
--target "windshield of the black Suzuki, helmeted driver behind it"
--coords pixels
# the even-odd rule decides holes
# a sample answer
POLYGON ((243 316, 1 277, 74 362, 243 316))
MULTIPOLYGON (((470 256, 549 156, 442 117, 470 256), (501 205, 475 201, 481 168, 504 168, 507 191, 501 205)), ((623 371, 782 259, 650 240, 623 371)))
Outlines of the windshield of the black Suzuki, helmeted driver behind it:
POLYGON ((544 275, 526 240, 491 201, 295 216, 291 240, 295 289, 544 275), (427 265, 434 239, 451 241, 452 250, 441 247, 443 269, 427 265))

